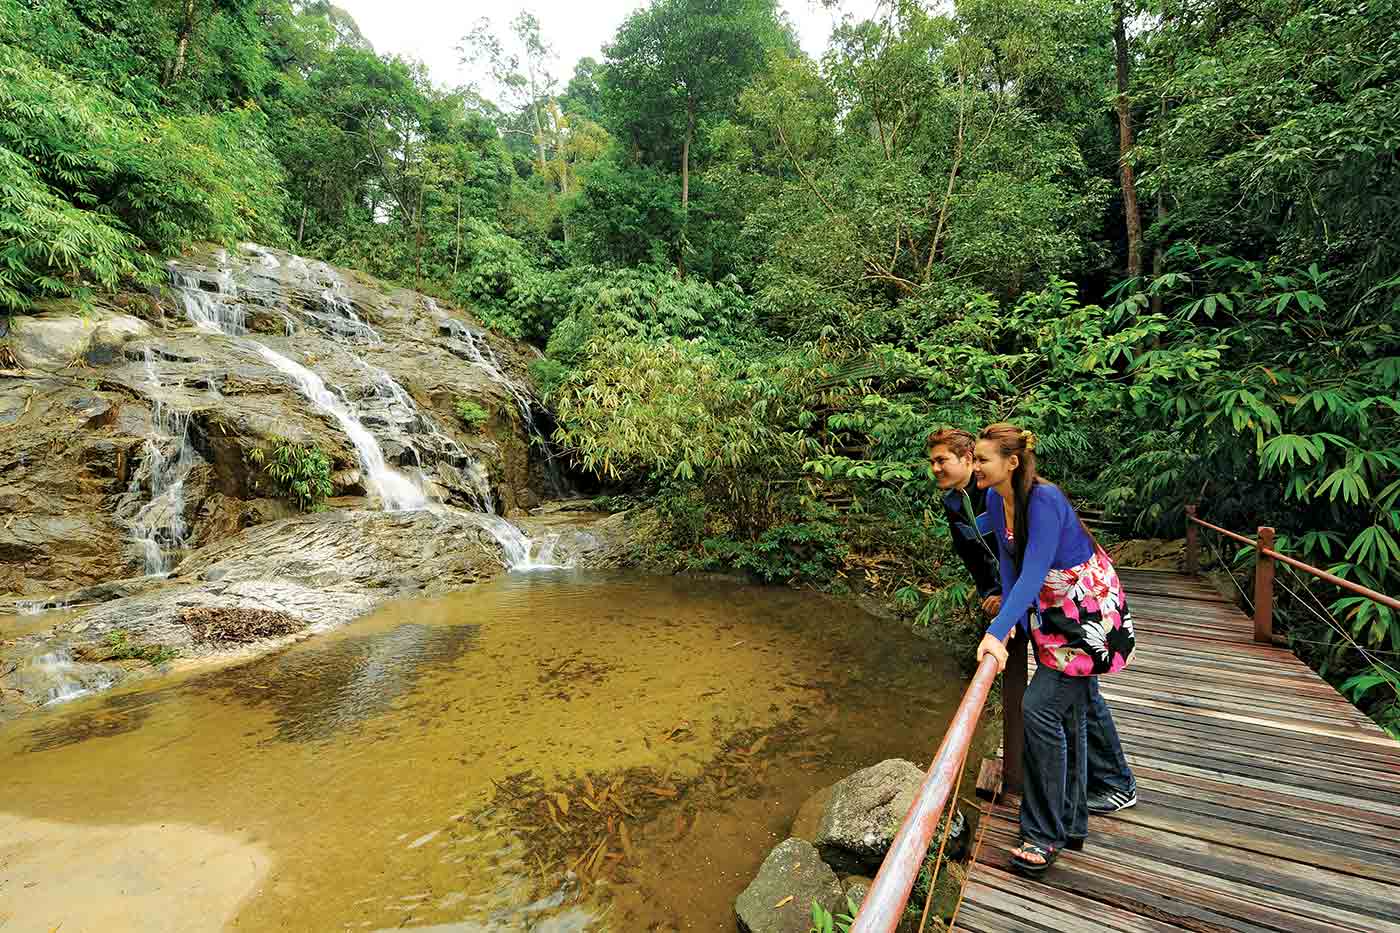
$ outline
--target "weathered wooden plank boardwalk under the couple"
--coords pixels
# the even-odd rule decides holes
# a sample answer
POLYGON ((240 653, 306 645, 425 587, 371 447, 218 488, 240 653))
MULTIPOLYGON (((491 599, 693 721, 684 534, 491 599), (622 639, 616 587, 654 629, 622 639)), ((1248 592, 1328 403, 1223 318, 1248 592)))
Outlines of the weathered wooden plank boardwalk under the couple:
POLYGON ((1140 803, 1040 881, 1016 801, 984 804, 956 929, 1400 933, 1400 744, 1205 584, 1123 583, 1138 656, 1099 684, 1140 803))

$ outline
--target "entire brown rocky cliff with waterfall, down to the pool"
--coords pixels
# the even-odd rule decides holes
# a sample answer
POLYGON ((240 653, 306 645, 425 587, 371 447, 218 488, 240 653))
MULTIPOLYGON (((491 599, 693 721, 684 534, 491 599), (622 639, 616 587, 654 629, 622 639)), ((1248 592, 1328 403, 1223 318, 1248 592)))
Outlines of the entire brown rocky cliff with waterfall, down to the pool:
MULTIPOLYGON (((169 276, 18 317, 4 340, 0 616, 91 608, 8 643, 0 629, 0 699, 108 682, 83 658, 113 633, 199 654, 217 647, 200 619, 336 623, 540 559, 511 521, 560 495, 535 350, 253 244, 169 276), (279 448, 325 455, 328 509, 301 511, 269 468, 279 448)), ((566 549, 599 541, 574 534, 566 549)))

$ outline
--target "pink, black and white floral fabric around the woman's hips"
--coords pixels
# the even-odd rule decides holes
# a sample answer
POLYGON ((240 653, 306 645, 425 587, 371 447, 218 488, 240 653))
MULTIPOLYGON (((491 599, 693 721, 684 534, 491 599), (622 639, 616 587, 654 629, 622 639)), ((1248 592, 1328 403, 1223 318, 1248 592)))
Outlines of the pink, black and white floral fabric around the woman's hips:
POLYGON ((1077 567, 1050 570, 1030 639, 1036 657, 1071 677, 1114 674, 1133 660, 1137 636, 1123 584, 1103 548, 1077 567))

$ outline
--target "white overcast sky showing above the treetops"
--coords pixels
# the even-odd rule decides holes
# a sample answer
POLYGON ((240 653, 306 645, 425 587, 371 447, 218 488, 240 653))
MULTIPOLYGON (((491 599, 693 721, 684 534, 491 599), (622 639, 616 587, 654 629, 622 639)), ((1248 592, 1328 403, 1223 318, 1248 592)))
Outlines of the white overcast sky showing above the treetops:
MULTIPOLYGON (((609 42, 622 21, 645 0, 498 0, 494 4, 462 3, 462 0, 336 0, 360 24, 379 53, 402 55, 428 67, 435 84, 456 87, 473 77, 458 63, 456 50, 462 36, 483 15, 491 20, 503 38, 511 20, 521 10, 533 13, 543 27, 546 41, 559 55, 554 76, 560 90, 574 73, 574 63, 585 56, 602 59, 602 46, 609 42)), ((781 0, 783 8, 797 25, 802 49, 812 57, 820 56, 832 35, 833 18, 840 10, 829 11, 813 0, 781 0)), ((868 17, 876 0, 844 0, 841 7, 857 17, 868 17)))

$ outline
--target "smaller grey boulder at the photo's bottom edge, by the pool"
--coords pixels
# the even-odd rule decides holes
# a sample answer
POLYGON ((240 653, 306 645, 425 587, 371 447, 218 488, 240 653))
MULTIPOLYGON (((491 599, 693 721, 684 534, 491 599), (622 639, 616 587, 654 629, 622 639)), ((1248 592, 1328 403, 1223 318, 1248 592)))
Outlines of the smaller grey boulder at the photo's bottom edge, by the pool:
POLYGON ((735 899, 734 912, 743 933, 808 933, 813 902, 839 911, 841 883, 812 843, 784 839, 735 899))

